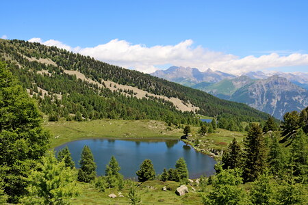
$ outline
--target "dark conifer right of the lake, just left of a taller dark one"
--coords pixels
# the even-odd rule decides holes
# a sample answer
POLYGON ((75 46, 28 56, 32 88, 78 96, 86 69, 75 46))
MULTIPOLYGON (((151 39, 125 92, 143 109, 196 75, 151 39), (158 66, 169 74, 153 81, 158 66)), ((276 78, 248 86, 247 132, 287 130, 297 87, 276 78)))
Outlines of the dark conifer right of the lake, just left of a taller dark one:
POLYGON ((235 138, 229 143, 227 150, 222 153, 222 168, 234 169, 242 167, 242 149, 235 138))

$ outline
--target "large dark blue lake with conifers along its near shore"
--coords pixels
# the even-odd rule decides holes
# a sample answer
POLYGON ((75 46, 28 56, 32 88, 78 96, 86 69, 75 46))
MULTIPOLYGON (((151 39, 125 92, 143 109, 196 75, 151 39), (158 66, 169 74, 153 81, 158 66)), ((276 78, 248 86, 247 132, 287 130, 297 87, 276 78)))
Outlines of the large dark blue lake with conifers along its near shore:
POLYGON ((151 159, 156 174, 162 174, 166 167, 175 168, 175 162, 183 157, 188 165, 190 178, 214 174, 216 161, 211 157, 196 152, 194 148, 179 140, 133 141, 124 139, 82 139, 71 141, 55 148, 55 151, 68 146, 76 167, 79 167, 81 151, 89 146, 97 163, 97 174, 105 174, 105 166, 112 155, 116 157, 125 178, 137 178, 136 171, 144 159, 151 159))

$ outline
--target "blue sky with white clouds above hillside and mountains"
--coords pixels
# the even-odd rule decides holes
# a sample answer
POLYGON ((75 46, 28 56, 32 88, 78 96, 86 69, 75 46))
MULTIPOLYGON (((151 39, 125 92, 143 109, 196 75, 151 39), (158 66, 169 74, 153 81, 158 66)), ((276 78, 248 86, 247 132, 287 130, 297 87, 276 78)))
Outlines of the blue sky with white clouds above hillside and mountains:
POLYGON ((308 1, 2 1, 0 38, 129 69, 308 72, 308 1))

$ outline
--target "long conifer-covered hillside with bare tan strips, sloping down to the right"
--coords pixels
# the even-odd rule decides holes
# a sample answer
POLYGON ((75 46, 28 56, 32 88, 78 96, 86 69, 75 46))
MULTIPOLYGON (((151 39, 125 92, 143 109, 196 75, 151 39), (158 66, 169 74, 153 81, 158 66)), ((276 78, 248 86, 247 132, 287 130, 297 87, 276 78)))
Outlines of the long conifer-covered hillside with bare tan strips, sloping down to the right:
POLYGON ((197 123, 194 112, 208 116, 224 113, 241 121, 268 118, 266 113, 244 104, 220 100, 190 87, 55 46, 0 40, 0 58, 7 62, 29 94, 38 99, 49 120, 151 119, 194 124, 197 123), (78 74, 84 74, 84 78, 78 74))

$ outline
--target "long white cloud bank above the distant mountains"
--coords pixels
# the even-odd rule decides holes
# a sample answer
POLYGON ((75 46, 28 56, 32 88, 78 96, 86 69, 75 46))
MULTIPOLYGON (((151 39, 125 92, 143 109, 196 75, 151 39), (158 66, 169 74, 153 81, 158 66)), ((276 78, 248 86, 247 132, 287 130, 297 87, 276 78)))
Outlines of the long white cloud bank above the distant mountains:
POLYGON ((285 66, 308 66, 308 54, 279 55, 278 53, 270 53, 260 57, 249 55, 240 58, 236 55, 209 51, 202 46, 193 46, 192 40, 185 40, 175 45, 147 47, 142 44, 131 44, 125 40, 114 39, 105 44, 88 48, 73 48, 58 40, 42 41, 40 38, 31 38, 29 41, 40 42, 47 46, 57 46, 82 55, 90 55, 110 64, 147 73, 159 70, 157 66, 165 64, 195 67, 199 70, 211 68, 234 74, 285 66))

